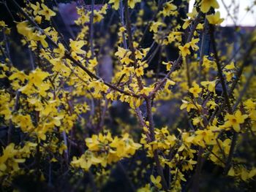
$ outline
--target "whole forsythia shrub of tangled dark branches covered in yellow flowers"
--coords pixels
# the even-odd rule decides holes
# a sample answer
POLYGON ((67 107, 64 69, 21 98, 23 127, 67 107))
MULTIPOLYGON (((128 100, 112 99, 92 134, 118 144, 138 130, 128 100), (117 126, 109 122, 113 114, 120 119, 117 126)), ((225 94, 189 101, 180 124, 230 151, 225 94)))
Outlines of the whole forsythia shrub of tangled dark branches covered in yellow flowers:
MULTIPOLYGON (((255 176, 256 169, 253 165, 240 166, 241 162, 236 163, 233 159, 241 133, 253 135, 255 132, 255 128, 250 126, 255 123, 256 104, 253 99, 242 99, 246 96, 245 93, 238 96, 236 93, 239 90, 236 88, 243 87, 241 85, 244 81, 241 77, 246 68, 245 64, 240 66, 238 61, 233 60, 235 66, 219 55, 221 51, 218 49, 214 30, 215 26, 222 23, 222 18, 219 12, 211 14, 219 7, 217 1, 197 1, 192 12, 181 23, 178 23, 179 11, 186 3, 177 7, 173 1, 159 1, 157 4, 154 1, 110 0, 109 4, 96 9, 96 1, 91 1, 90 5, 86 5, 88 9, 78 7, 79 18, 75 23, 80 27, 80 32, 69 43, 53 20, 56 13, 44 3, 28 4, 23 9, 17 1, 10 1, 25 18, 17 22, 18 32, 23 35, 23 40, 34 54, 43 59, 39 57, 37 69, 23 73, 11 66, 7 47, 0 47, 9 67, 1 66, 1 75, 10 80, 10 90, 13 91, 11 94, 8 89, 1 92, 2 98, 10 99, 10 104, 3 104, 3 112, 0 113, 9 122, 6 123, 9 126, 9 148, 6 147, 5 151, 15 147, 11 143, 15 126, 28 134, 29 140, 36 139, 36 143, 27 143, 24 147, 35 147, 31 151, 35 150, 37 154, 38 178, 39 161, 44 158, 40 150, 48 153, 50 147, 45 145, 48 141, 52 142, 55 135, 61 135, 58 139, 66 145, 59 152, 62 155, 64 151, 66 171, 86 171, 94 191, 97 191, 97 180, 94 177, 100 175, 94 173, 99 170, 103 173, 102 170, 110 169, 117 162, 131 190, 135 191, 133 180, 129 178, 121 160, 135 155, 139 149, 151 159, 151 164, 146 165, 151 170, 144 174, 151 180, 149 184, 143 182, 144 189, 147 190, 181 191, 182 183, 189 180, 186 188, 198 191, 203 164, 209 162, 223 169, 225 175, 229 174, 240 180, 249 181, 255 176), (143 6, 146 9, 154 7, 151 10, 154 16, 148 23, 141 21, 143 9, 138 12, 139 7, 143 6), (101 56, 100 50, 104 47, 98 50, 99 39, 96 39, 97 33, 94 31, 97 31, 96 23, 104 23, 106 14, 110 11, 113 13, 108 28, 118 14, 121 24, 116 24, 117 42, 111 55, 114 75, 111 82, 107 82, 99 75, 98 60, 101 56), (43 29, 42 22, 49 28, 43 29), (206 23, 210 26, 209 31, 206 23), (151 45, 143 47, 148 34, 151 34, 153 40, 151 45), (206 45, 208 34, 211 45, 206 45), (205 53, 207 46, 209 49, 212 47, 213 53, 205 53), (173 53, 168 47, 174 47, 173 53), (176 58, 170 59, 175 51, 178 53, 176 58), (47 61, 51 68, 43 69, 43 61, 47 61), (154 66, 158 68, 157 73, 147 69, 154 69, 154 66), (7 72, 9 69, 10 74, 7 72), (221 84, 221 93, 217 93, 218 84, 221 84), (72 91, 66 91, 66 87, 72 91), (90 107, 80 107, 79 101, 72 101, 74 98, 83 98, 90 102, 90 107), (236 99, 238 101, 233 106, 236 99), (105 124, 105 119, 108 119, 110 106, 116 104, 113 101, 118 100, 129 104, 132 108, 131 116, 137 118, 139 123, 132 124, 128 131, 122 127, 121 137, 113 137, 110 131, 113 129, 108 123, 105 124), (173 120, 167 114, 171 123, 168 127, 157 128, 159 120, 154 118, 154 112, 160 113, 156 107, 165 101, 178 101, 178 104, 166 104, 170 104, 170 108, 177 108, 175 105, 178 105, 177 111, 181 109, 187 112, 173 113, 173 120), (86 113, 89 108, 90 112, 86 113), (87 117, 84 113, 89 116, 88 119, 84 118, 87 117), (86 126, 82 119, 87 120, 86 126), (79 138, 85 139, 86 147, 80 147, 76 134, 79 128, 75 127, 75 122, 80 123, 82 129, 85 128, 79 138), (48 127, 45 128, 45 125, 48 127), (140 132, 138 138, 141 145, 133 142, 127 132, 140 132), (230 132, 233 137, 229 136, 230 132), (72 158, 73 146, 77 147, 79 154, 72 158), (91 166, 100 168, 94 170, 91 166), (193 169, 195 172, 192 172, 193 169)), ((1 24, 1 27, 6 26, 1 24)), ((244 58, 252 55, 255 42, 252 39, 249 52, 244 58)), ((255 70, 255 67, 252 69, 255 70)), ((253 72, 242 90, 246 91, 250 87, 249 81, 253 78, 253 72)), ((109 118, 109 121, 111 123, 115 120, 109 118)), ((120 121, 116 120, 118 123, 120 121)), ((15 153, 20 155, 18 150, 15 153)), ((51 153, 53 152, 49 152, 51 153)), ((56 151, 53 156, 55 153, 56 151)), ((143 186, 139 187, 143 190, 143 186)))

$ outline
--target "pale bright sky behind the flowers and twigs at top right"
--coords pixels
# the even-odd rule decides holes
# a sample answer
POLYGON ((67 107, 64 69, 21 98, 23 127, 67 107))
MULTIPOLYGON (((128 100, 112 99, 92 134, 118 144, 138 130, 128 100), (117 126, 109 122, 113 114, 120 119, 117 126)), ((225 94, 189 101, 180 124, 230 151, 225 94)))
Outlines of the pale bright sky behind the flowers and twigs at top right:
MULTIPOLYGON (((251 9, 252 12, 246 12, 246 7, 252 7, 255 0, 217 0, 219 3, 219 12, 221 18, 225 18, 221 26, 233 26, 233 19, 227 14, 227 10, 222 2, 225 3, 226 7, 230 12, 230 15, 236 16, 237 26, 256 26, 256 5, 251 9), (235 12, 235 13, 234 13, 235 12)), ((256 1, 255 1, 256 2, 256 1)), ((189 12, 193 8, 195 0, 190 0, 189 12)))

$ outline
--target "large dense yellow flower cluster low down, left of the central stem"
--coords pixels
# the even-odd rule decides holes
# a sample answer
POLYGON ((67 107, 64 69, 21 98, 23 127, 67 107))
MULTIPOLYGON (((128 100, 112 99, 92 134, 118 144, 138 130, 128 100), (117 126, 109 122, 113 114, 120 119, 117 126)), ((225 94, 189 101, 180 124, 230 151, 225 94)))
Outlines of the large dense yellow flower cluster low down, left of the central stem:
POLYGON ((80 158, 73 157, 71 165, 88 171, 92 165, 100 164, 105 167, 122 158, 129 158, 141 145, 130 139, 129 134, 124 134, 121 138, 113 138, 108 131, 107 134, 87 138, 86 146, 88 150, 80 158))

